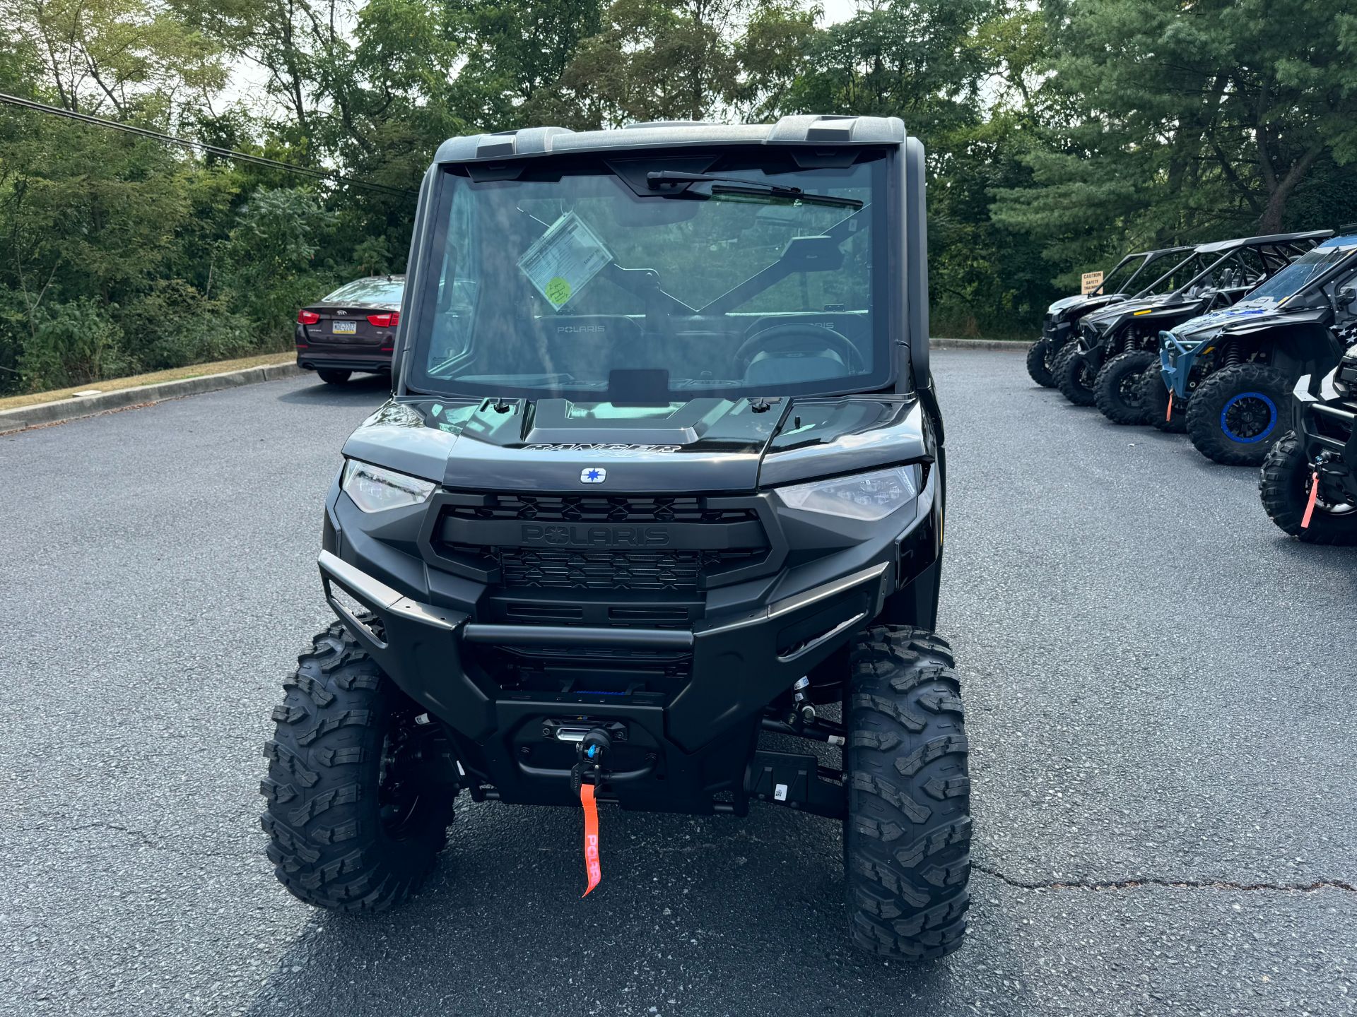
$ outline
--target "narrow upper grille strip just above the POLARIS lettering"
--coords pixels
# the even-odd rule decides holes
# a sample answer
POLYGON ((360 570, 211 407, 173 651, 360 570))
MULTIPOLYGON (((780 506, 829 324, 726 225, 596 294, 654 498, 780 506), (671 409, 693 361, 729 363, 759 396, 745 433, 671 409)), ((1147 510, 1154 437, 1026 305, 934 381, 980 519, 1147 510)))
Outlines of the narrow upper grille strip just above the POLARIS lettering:
POLYGON ((491 495, 484 504, 451 504, 448 518, 493 522, 756 522, 753 509, 711 507, 699 496, 491 495))

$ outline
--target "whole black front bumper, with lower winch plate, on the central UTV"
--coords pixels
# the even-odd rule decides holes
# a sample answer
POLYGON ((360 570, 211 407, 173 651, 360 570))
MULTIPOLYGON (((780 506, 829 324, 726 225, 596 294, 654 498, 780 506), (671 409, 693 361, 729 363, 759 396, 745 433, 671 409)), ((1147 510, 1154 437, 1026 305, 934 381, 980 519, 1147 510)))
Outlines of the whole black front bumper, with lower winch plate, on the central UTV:
POLYGON ((615 731, 609 795, 627 808, 684 812, 715 811, 722 793, 744 811, 764 706, 860 631, 894 589, 894 570, 882 561, 691 631, 499 625, 404 597, 328 551, 319 567, 330 606, 381 670, 448 724, 475 784, 493 785, 503 801, 573 804, 574 754, 563 732, 603 725, 615 731), (503 689, 470 662, 480 647, 689 655, 691 679, 672 698, 594 690, 588 681, 503 689))

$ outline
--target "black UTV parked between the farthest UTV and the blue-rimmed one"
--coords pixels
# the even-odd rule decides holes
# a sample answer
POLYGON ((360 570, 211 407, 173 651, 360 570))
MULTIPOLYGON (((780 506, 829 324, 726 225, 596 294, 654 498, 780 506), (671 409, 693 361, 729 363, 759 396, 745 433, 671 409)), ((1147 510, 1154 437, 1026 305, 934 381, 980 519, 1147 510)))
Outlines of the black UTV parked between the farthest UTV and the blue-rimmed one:
POLYGON ((1166 274, 1168 293, 1087 315, 1056 365, 1056 386, 1076 405, 1096 404, 1113 423, 1147 423, 1139 382, 1156 362, 1159 332, 1234 304, 1333 235, 1320 229, 1200 244, 1166 274))

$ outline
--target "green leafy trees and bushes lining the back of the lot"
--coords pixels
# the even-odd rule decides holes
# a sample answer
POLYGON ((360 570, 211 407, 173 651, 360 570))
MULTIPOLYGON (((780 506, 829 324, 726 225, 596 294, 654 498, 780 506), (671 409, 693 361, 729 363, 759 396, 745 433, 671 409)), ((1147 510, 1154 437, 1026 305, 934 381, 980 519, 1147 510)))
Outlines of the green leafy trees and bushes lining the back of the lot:
POLYGON ((0 89, 398 193, 0 107, 0 391, 286 348, 400 271, 437 144, 900 117, 939 334, 1030 334, 1126 250, 1357 220, 1352 0, 15 0, 0 89))

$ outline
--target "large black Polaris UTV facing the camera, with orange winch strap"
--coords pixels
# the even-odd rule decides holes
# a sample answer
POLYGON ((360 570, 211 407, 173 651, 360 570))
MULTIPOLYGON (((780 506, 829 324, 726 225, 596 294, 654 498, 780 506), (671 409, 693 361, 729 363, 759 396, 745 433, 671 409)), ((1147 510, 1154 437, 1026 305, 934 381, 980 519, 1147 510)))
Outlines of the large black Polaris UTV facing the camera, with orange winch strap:
POLYGON ((925 252, 898 119, 445 142, 394 396, 326 500, 339 620, 266 749, 284 885, 402 900, 460 792, 581 808, 589 890, 598 801, 767 801, 843 822, 859 946, 955 949, 969 778, 932 632, 925 252))

